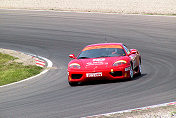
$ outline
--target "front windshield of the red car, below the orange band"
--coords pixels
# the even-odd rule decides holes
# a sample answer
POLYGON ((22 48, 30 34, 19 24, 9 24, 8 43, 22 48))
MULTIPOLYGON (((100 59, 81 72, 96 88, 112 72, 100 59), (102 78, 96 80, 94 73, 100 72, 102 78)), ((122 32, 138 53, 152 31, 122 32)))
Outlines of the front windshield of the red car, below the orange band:
POLYGON ((118 57, 125 56, 125 51, 120 48, 99 48, 82 51, 78 59, 100 58, 100 57, 118 57))

